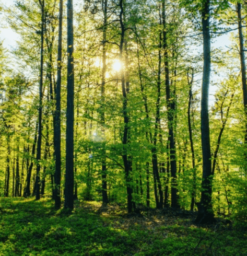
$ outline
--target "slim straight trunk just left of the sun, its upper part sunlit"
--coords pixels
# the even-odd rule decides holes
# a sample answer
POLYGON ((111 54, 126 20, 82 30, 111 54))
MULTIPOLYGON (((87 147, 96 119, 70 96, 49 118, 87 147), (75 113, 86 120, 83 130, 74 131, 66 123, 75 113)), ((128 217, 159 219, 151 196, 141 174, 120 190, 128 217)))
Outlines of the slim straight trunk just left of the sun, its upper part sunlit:
POLYGON ((104 87, 105 87, 105 73, 107 71, 107 49, 106 49, 106 43, 107 43, 107 4, 108 0, 102 1, 102 10, 104 15, 103 20, 103 56, 102 56, 102 84, 101 84, 101 132, 102 137, 104 138, 104 141, 102 142, 102 172, 101 172, 101 178, 102 178, 102 203, 107 204, 108 203, 108 196, 107 196, 107 159, 106 159, 106 151, 105 151, 105 131, 104 131, 104 125, 105 125, 105 117, 104 117, 104 106, 105 106, 105 95, 104 95, 104 87))

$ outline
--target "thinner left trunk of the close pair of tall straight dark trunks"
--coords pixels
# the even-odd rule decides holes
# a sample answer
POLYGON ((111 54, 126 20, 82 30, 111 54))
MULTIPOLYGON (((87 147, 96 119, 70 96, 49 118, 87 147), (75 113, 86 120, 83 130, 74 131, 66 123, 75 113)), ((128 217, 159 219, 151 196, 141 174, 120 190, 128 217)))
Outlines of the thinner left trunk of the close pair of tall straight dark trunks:
POLYGON ((62 79, 62 30, 63 30, 63 0, 59 6, 58 25, 58 46, 57 46, 57 80, 56 80, 56 112, 54 127, 54 154, 55 154, 55 188, 54 200, 55 209, 61 207, 61 79, 62 79))

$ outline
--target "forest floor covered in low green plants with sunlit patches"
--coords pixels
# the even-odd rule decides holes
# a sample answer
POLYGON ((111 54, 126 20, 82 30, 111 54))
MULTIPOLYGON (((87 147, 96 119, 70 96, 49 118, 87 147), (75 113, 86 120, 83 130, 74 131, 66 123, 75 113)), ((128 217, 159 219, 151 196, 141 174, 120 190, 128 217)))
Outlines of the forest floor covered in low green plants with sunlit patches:
POLYGON ((50 199, 0 200, 0 256, 247 256, 246 230, 195 226, 196 213, 76 201, 68 214, 50 199))

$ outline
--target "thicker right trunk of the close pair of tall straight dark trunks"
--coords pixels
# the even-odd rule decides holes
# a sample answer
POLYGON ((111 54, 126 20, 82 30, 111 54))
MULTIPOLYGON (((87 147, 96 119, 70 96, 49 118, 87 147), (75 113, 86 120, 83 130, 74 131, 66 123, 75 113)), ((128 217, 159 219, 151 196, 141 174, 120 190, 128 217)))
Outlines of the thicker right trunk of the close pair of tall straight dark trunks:
POLYGON ((74 208, 74 32, 73 0, 67 0, 67 114, 66 114, 66 172, 65 209, 74 208))

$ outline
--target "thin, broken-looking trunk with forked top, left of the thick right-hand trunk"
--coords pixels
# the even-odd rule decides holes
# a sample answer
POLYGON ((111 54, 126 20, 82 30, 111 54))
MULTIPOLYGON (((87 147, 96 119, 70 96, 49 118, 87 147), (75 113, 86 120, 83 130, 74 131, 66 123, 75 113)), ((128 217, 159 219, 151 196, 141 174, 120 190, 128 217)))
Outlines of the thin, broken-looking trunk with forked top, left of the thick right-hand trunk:
POLYGON ((192 100, 193 100, 193 94, 192 94, 193 77, 194 77, 194 71, 193 71, 193 69, 192 69, 191 81, 189 80, 189 73, 187 73, 187 80, 188 80, 188 85, 189 85, 189 103, 188 103, 187 117, 188 117, 188 127, 189 127, 190 144, 191 144, 192 171, 193 171, 192 197, 191 197, 191 211, 194 211, 195 195, 196 195, 195 150, 194 150, 194 144, 193 144, 192 125, 191 125, 191 105, 192 105, 192 100))

